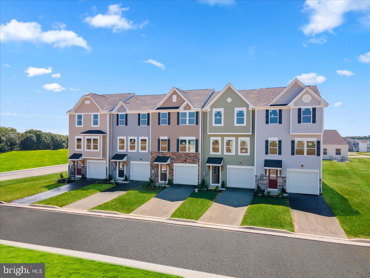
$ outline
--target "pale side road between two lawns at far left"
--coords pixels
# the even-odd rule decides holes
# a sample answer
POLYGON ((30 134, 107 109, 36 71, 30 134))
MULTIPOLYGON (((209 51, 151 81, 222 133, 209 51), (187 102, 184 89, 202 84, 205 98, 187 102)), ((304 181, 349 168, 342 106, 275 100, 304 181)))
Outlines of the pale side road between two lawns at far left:
POLYGON ((6 181, 7 179, 19 179, 33 176, 41 176, 53 173, 61 173, 68 171, 68 164, 53 165, 32 169, 24 169, 10 172, 0 173, 0 181, 6 181))

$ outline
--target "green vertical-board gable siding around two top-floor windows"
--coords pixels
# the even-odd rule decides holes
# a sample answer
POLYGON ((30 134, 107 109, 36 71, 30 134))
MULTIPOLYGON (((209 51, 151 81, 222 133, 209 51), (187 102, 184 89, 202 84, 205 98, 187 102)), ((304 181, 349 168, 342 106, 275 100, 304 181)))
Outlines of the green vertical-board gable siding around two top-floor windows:
MULTIPOLYGON (((208 132, 209 133, 250 133, 250 115, 248 103, 245 102, 233 89, 230 87, 212 104, 211 110, 208 112, 208 132), (228 98, 232 101, 227 102, 228 98), (246 126, 235 126, 235 107, 246 107, 246 126), (223 108, 223 126, 212 126, 213 108, 223 108)), ((207 115, 205 116, 207 118, 207 115)), ((205 125, 207 127, 207 125, 205 125)))

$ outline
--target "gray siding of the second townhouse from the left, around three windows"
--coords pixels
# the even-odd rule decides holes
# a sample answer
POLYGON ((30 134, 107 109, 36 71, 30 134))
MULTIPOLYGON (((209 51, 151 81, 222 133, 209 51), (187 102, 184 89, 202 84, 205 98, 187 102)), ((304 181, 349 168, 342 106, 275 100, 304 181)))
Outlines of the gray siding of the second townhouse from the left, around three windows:
MULTIPOLYGON (((124 107, 122 110, 124 110, 124 107)), ((119 111, 121 112, 121 107, 119 111)), ((123 112, 123 111, 122 111, 123 112)), ((137 113, 128 113, 127 114, 127 126, 117 126, 117 114, 112 114, 111 120, 111 156, 109 159, 112 158, 116 153, 118 154, 127 154, 127 168, 126 168, 126 175, 130 178, 131 175, 131 161, 139 161, 141 158, 142 161, 150 161, 150 126, 138 126, 138 114, 137 113), (125 136, 126 137, 126 152, 117 152, 117 136, 125 136), (127 152, 128 150, 128 138, 129 136, 136 137, 136 152, 127 152), (139 152, 139 137, 144 136, 148 137, 148 152, 139 152)), ((151 121, 152 119, 150 119, 151 121)), ((111 162, 111 169, 114 166, 114 163, 111 162)), ((114 174, 116 172, 114 171, 114 174)), ((113 176, 115 178, 115 176, 113 176)))

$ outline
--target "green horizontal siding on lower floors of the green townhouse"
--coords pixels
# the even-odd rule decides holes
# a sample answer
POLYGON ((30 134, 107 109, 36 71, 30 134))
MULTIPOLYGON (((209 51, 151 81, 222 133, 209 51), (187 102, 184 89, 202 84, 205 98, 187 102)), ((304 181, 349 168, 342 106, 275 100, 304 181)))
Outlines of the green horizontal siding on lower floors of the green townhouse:
POLYGON ((254 119, 255 111, 252 111, 252 135, 244 134, 228 134, 228 135, 217 135, 217 134, 207 134, 207 112, 203 112, 203 136, 202 136, 202 172, 208 171, 208 176, 203 176, 206 184, 210 184, 211 172, 208 170, 206 161, 209 157, 222 157, 223 158, 223 170, 221 171, 221 182, 224 181, 227 185, 227 165, 239 165, 242 162, 242 166, 254 166, 254 156, 255 156, 255 131, 254 131, 254 119), (221 137, 221 154, 211 155, 211 137, 221 137), (235 137, 235 155, 224 155, 224 143, 225 137, 235 137), (238 138, 239 137, 249 137, 249 155, 238 155, 238 138))

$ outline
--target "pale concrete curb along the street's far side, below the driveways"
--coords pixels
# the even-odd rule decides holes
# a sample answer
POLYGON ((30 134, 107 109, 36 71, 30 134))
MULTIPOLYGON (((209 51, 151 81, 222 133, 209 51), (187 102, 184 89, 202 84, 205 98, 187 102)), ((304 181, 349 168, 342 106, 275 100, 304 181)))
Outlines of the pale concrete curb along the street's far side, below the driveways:
POLYGON ((99 210, 83 211, 83 210, 78 210, 78 209, 60 208, 58 206, 50 206, 50 205, 21 205, 17 203, 6 203, 3 201, 1 201, 1 206, 13 206, 17 208, 38 209, 38 210, 54 211, 54 212, 61 212, 61 213, 72 213, 72 214, 80 214, 80 215, 151 221, 151 222, 158 222, 158 223, 171 224, 171 225, 191 226, 191 227, 208 228, 208 229, 219 229, 219 230, 232 231, 232 232, 246 232, 250 234, 273 235, 273 236, 281 236, 281 237, 288 237, 288 238, 309 239, 309 240, 314 240, 314 241, 324 241, 324 242, 332 242, 332 243, 339 243, 339 244, 370 247, 370 240, 368 239, 333 238, 329 236, 300 234, 300 233, 290 232, 290 231, 281 230, 281 229, 262 228, 262 227, 255 227, 255 226, 228 226, 228 225, 220 225, 220 224, 212 224, 212 223, 203 223, 203 222, 190 220, 190 219, 159 218, 159 217, 152 217, 152 216, 121 214, 119 212, 99 211, 99 210))

